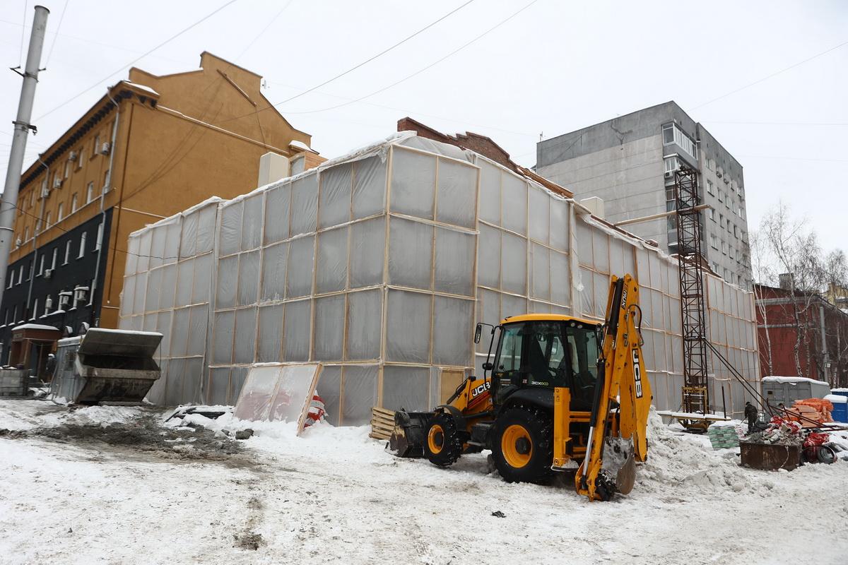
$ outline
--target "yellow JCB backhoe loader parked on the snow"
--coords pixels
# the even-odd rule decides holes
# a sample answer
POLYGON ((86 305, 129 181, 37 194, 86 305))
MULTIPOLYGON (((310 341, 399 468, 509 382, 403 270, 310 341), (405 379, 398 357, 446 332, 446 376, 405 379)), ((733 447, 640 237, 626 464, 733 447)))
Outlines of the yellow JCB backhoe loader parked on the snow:
MULTIPOLYGON (((442 467, 490 449, 510 482, 544 484, 573 471, 577 492, 590 500, 627 494, 635 462, 648 455, 641 320, 639 287, 628 274, 611 277, 604 324, 525 314, 489 325, 483 378, 469 377, 432 412, 395 413, 390 448, 442 467)), ((477 324, 476 343, 485 325, 477 324)))

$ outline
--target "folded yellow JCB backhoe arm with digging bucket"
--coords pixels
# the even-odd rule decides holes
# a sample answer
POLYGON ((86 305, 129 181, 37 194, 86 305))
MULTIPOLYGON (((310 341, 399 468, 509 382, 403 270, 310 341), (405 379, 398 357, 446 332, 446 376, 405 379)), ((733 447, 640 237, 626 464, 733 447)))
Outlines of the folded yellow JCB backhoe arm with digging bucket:
POLYGON ((645 430, 651 394, 642 367, 641 318, 639 286, 629 274, 621 279, 613 276, 589 422, 589 444, 575 475, 577 492, 590 500, 609 500, 616 491, 629 492, 633 488, 633 457, 640 462, 647 457, 645 430), (611 414, 611 409, 616 408, 617 412, 611 414), (604 447, 613 437, 632 442, 632 455, 615 478, 603 469, 604 447), (626 471, 623 477, 622 471, 626 471))

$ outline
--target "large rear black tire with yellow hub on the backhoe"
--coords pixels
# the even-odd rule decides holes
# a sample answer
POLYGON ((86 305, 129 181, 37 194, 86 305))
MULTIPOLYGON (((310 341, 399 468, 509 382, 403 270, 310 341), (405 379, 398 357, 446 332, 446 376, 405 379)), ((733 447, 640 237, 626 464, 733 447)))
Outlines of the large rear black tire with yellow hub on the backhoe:
POLYGON ((550 482, 554 425, 550 414, 533 407, 510 407, 494 423, 492 457, 508 483, 550 482))

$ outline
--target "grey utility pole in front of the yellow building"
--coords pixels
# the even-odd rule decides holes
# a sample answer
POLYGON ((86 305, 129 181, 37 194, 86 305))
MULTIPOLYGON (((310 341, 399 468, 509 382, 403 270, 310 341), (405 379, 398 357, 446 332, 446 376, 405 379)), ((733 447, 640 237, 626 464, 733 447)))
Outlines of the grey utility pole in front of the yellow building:
POLYGON ((18 117, 12 122, 14 124, 12 151, 8 156, 6 184, 3 185, 3 201, 0 202, 0 302, 3 301, 3 289, 6 288, 8 253, 12 250, 12 238, 14 238, 14 211, 18 208, 18 188, 20 187, 20 174, 24 168, 26 137, 30 134, 30 130, 36 131, 36 127, 30 124, 30 119, 32 118, 32 102, 36 97, 38 66, 42 62, 47 14, 50 14, 50 10, 43 6, 36 6, 24 72, 15 70, 16 73, 24 77, 24 84, 20 87, 18 117))

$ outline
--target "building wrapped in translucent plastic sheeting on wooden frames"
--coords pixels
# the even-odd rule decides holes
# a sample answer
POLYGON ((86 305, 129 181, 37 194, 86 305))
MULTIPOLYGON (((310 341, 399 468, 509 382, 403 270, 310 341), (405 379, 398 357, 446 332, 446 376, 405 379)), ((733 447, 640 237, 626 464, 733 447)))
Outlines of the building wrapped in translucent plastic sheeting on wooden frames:
MULTIPOLYGON (((120 327, 165 335, 153 402, 233 404, 252 363, 314 361, 333 424, 431 408, 482 375, 478 321, 601 320, 610 274, 631 273, 654 402, 681 403, 676 261, 530 176, 411 132, 202 202, 128 251, 120 327)), ((753 297, 705 276, 711 341, 758 386, 753 297)), ((741 413, 744 388, 712 368, 713 407, 723 387, 741 413)))

